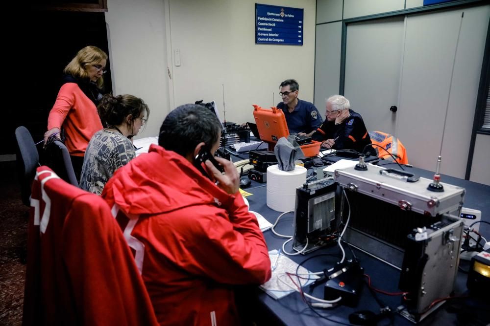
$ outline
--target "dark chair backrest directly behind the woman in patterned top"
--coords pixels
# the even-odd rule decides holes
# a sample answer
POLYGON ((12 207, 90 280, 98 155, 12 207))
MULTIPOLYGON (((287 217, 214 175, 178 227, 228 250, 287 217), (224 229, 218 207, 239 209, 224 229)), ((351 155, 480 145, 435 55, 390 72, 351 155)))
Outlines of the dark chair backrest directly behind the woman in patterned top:
POLYGON ((60 178, 66 182, 78 187, 78 180, 76 180, 75 171, 73 170, 72 159, 70 153, 60 140, 54 140, 49 142, 48 148, 48 165, 60 178))

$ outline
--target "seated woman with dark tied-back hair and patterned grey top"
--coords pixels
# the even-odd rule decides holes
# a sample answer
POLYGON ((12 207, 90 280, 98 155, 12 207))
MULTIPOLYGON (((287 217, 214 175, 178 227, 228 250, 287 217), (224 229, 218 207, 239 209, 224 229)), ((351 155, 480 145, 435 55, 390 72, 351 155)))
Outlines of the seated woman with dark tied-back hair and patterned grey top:
POLYGON ((133 95, 106 94, 98 104, 106 127, 95 133, 83 160, 80 188, 100 195, 114 172, 136 157, 131 141, 145 124, 149 109, 133 95))

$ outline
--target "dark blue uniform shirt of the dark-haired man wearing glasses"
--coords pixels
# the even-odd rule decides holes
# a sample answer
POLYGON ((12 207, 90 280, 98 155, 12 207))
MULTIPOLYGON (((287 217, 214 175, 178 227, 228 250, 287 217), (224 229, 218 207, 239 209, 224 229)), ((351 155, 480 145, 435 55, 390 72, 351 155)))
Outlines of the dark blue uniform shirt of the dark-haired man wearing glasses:
POLYGON ((277 109, 282 109, 286 116, 289 133, 310 133, 321 126, 323 119, 313 103, 298 99, 298 104, 293 112, 288 111, 288 106, 283 102, 277 105, 277 109))

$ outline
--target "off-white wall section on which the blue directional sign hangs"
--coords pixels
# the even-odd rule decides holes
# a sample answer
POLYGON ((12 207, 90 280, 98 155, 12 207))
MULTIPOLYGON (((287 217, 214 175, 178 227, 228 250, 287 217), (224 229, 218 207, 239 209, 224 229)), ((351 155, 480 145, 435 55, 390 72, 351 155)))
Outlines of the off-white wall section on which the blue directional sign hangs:
POLYGON ((299 83, 299 98, 313 102, 315 0, 270 0, 271 5, 304 8, 304 45, 255 44, 255 0, 165 0, 170 7, 172 83, 175 106, 215 100, 223 119, 253 119, 252 104, 280 102, 279 84, 299 83), (174 65, 180 50, 181 65, 174 65), (272 102, 274 93, 274 102, 272 102))

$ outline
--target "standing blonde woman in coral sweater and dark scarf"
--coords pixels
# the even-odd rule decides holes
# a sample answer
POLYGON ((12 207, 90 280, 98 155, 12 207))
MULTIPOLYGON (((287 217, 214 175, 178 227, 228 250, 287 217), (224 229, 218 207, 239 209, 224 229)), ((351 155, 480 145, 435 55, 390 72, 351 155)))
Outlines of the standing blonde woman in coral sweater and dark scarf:
POLYGON ((86 46, 78 51, 63 70, 66 74, 63 85, 49 112, 44 143, 46 145, 51 136, 61 139, 61 128, 64 129, 65 145, 77 180, 80 180, 87 145, 92 136, 103 128, 96 106, 102 98, 100 88, 106 63, 107 54, 96 46, 86 46))

